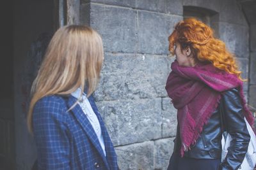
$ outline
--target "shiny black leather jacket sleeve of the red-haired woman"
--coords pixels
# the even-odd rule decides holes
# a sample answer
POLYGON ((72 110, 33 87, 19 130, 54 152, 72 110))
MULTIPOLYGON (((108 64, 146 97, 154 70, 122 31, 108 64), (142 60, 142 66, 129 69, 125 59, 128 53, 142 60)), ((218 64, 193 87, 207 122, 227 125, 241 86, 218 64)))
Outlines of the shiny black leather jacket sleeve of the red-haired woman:
POLYGON ((243 162, 250 142, 239 91, 232 89, 224 92, 221 102, 223 104, 223 123, 227 132, 232 136, 232 141, 227 156, 220 164, 219 169, 238 169, 243 162))

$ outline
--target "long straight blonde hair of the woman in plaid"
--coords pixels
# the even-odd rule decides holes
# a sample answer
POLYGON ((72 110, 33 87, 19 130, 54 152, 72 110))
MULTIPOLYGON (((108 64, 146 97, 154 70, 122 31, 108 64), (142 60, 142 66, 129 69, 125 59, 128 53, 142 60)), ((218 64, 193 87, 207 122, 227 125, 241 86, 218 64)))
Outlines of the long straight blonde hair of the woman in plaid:
POLYGON ((67 96, 79 87, 81 96, 84 88, 90 96, 97 87, 103 59, 102 39, 92 28, 68 25, 58 29, 31 88, 29 131, 33 132, 33 108, 42 97, 67 96))

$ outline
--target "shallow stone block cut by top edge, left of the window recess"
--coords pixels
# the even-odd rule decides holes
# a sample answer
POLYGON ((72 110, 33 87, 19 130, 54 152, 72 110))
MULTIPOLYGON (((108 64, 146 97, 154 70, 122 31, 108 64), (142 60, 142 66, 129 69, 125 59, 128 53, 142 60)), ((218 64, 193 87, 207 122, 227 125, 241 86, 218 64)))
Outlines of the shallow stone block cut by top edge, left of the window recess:
POLYGON ((182 1, 177 0, 140 0, 136 2, 136 8, 148 11, 157 11, 174 15, 182 15, 182 1))

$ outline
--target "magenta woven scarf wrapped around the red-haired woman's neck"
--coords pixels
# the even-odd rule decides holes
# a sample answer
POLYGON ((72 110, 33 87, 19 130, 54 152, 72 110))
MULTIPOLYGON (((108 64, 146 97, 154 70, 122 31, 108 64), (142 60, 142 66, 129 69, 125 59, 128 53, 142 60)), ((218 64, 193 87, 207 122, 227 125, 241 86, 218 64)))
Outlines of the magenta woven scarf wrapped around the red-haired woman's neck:
POLYGON ((179 66, 177 60, 172 63, 172 72, 166 82, 166 91, 178 110, 180 154, 188 151, 196 143, 204 124, 216 110, 221 92, 233 88, 239 89, 244 116, 253 127, 253 116, 246 107, 243 95, 243 81, 235 74, 220 71, 212 64, 198 64, 195 67, 179 66))

